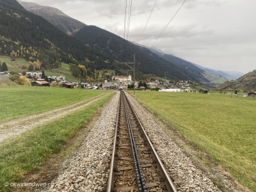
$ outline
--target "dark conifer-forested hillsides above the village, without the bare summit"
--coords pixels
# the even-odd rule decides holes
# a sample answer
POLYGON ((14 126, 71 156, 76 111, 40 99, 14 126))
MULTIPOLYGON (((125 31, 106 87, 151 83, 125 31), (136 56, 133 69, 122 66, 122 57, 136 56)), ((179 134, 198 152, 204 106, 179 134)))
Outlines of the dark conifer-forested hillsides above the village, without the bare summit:
POLYGON ((72 63, 72 74, 93 80, 96 70, 114 69, 125 74, 121 61, 133 61, 136 53, 136 77, 168 77, 173 80, 196 81, 173 63, 159 58, 146 48, 95 26, 85 26, 68 36, 47 20, 25 10, 15 0, 0 0, 0 54, 29 61, 28 70, 58 68, 61 61, 72 63), (82 40, 80 42, 79 40, 82 40), (125 46, 125 55, 124 55, 125 46), (147 74, 147 75, 145 75, 147 74))

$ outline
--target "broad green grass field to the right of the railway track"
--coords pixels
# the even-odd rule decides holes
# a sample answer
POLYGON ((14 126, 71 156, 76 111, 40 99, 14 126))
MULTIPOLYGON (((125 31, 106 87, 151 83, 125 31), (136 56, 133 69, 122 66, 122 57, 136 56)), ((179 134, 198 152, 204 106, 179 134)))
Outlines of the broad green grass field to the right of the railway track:
POLYGON ((256 191, 256 98, 140 91, 136 98, 256 191))

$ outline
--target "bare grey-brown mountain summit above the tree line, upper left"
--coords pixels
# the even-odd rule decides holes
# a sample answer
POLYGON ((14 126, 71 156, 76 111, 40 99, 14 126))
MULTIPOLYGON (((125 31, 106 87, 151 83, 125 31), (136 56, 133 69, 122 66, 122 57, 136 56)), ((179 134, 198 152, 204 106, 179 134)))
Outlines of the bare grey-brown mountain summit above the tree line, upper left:
POLYGON ((67 35, 72 35, 72 33, 76 33, 79 29, 86 26, 83 22, 79 20, 73 19, 61 12, 57 8, 53 8, 51 6, 42 6, 36 3, 18 1, 26 10, 29 12, 35 13, 48 20, 56 26, 58 29, 66 33, 67 35))

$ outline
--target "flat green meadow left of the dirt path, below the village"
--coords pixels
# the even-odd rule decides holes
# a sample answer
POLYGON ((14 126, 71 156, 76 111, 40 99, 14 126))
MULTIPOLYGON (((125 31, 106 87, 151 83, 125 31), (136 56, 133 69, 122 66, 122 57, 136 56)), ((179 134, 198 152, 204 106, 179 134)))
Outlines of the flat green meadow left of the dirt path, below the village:
POLYGON ((0 86, 0 122, 60 108, 106 91, 36 86, 0 86))

